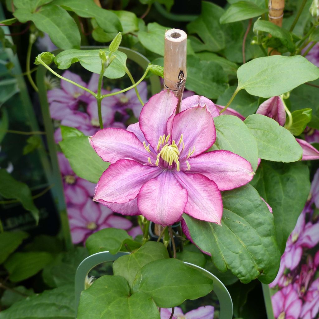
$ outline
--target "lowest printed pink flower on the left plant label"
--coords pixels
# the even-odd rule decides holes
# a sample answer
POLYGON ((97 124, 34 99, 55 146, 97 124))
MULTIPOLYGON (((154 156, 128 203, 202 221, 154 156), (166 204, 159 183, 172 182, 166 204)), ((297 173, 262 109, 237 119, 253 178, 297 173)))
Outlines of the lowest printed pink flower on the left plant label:
POLYGON ((132 226, 130 220, 114 215, 108 207, 90 198, 86 198, 84 206, 69 205, 67 211, 74 244, 84 243, 87 237, 104 228, 129 229, 132 226))

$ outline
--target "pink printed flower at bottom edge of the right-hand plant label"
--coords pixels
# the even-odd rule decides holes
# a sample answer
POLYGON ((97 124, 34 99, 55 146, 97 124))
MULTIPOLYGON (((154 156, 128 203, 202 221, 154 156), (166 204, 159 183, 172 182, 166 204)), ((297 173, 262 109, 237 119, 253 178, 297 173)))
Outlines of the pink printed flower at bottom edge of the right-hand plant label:
POLYGON ((289 285, 271 297, 275 319, 298 319, 302 301, 293 285, 289 285))

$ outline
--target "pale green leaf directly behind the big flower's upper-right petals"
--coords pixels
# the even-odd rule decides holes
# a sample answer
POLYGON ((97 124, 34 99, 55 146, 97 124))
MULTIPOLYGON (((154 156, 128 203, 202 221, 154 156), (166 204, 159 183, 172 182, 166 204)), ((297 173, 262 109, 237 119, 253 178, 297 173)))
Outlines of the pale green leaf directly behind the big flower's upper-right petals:
POLYGON ((247 159, 254 171, 257 169, 258 149, 254 136, 247 126, 234 115, 214 117, 216 141, 214 146, 247 159))

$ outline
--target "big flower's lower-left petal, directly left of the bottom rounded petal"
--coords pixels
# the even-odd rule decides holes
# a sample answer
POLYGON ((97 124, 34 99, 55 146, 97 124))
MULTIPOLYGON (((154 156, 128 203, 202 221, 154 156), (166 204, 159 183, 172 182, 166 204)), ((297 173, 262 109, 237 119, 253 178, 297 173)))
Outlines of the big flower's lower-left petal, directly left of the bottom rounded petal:
POLYGON ((159 167, 142 165, 131 159, 111 164, 98 182, 93 200, 123 204, 134 199, 141 187, 161 173, 159 167))

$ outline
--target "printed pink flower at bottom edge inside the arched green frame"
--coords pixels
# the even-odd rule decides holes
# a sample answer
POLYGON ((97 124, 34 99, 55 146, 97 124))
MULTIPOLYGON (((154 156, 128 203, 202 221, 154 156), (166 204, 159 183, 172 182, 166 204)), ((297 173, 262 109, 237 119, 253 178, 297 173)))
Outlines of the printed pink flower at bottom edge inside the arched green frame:
MULTIPOLYGON (((161 308, 160 318, 169 319, 172 314, 172 308, 161 308)), ((197 309, 191 310, 184 315, 181 308, 174 308, 174 315, 172 319, 213 319, 214 318, 214 307, 204 306, 197 309)))

